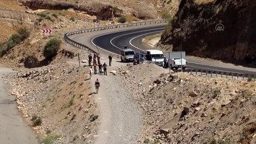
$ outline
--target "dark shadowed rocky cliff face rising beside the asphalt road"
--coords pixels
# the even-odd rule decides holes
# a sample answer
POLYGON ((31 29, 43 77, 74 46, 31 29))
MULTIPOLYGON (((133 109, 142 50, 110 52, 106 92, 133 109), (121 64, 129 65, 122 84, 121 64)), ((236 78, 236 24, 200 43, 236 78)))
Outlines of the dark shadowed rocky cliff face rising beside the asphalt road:
POLYGON ((256 1, 195 4, 194 0, 182 0, 170 26, 171 32, 162 36, 159 45, 238 64, 255 61, 256 1))

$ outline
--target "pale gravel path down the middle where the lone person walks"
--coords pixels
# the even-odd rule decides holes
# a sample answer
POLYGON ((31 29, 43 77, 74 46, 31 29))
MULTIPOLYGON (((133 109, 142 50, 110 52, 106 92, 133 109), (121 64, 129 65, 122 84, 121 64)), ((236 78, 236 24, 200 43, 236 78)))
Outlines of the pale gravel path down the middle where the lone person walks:
MULTIPOLYGON (((112 75, 112 74, 109 74, 112 75)), ((138 143, 142 113, 131 95, 121 87, 118 77, 94 75, 101 87, 96 100, 100 109, 100 127, 96 144, 138 143)))

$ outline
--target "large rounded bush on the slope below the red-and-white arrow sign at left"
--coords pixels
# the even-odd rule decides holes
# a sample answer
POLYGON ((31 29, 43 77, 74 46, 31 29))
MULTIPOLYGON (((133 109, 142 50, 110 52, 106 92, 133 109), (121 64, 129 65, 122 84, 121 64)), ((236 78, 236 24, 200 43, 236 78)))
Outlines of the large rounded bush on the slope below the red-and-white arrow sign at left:
POLYGON ((58 40, 56 38, 52 38, 46 43, 46 46, 44 46, 43 55, 46 59, 52 59, 57 55, 57 52, 59 50, 59 47, 61 46, 61 40, 58 40))

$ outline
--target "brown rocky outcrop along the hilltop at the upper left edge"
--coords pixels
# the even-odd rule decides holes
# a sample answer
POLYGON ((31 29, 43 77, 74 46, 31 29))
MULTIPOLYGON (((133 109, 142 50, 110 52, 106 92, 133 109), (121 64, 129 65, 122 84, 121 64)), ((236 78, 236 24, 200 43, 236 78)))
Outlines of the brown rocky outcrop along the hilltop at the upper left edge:
POLYGON ((81 5, 73 2, 65 1, 44 1, 44 0, 28 0, 22 1, 22 4, 26 7, 31 8, 32 10, 45 9, 45 10, 68 10, 72 8, 73 10, 84 11, 91 16, 97 16, 97 19, 108 20, 114 17, 121 16, 123 13, 122 10, 114 8, 109 4, 87 4, 81 5))

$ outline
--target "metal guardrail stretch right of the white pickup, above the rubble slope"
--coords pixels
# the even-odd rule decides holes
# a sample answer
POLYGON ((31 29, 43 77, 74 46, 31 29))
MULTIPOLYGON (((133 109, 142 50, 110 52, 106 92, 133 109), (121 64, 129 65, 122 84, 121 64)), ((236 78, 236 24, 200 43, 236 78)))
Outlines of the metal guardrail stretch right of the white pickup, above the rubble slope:
MULTIPOLYGON (((181 70, 173 70, 174 72, 180 72, 181 70)), ((226 79, 228 79, 228 77, 230 78, 241 78, 243 80, 247 79, 248 81, 256 81, 256 74, 244 74, 244 73, 233 73, 233 72, 227 72, 227 71, 211 71, 211 70, 198 70, 198 69, 186 69, 183 70, 184 72, 187 73, 195 73, 196 75, 199 76, 210 76, 210 77, 226 77, 226 79)))

